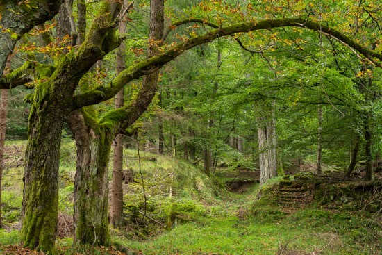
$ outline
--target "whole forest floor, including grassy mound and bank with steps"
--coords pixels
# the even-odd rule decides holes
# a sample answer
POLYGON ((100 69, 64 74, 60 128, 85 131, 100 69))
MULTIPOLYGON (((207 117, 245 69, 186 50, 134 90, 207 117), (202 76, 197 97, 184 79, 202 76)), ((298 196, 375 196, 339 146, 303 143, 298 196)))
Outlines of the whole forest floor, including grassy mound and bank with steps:
MULTIPOLYGON (((8 144, 13 152, 3 179, 7 228, 0 230, 0 254, 38 254, 17 245, 23 161, 17 151, 24 146, 8 144)), ((62 151, 58 254, 382 254, 381 189, 374 184, 335 178, 311 181, 301 174, 272 179, 260 189, 258 173, 250 170, 224 167, 208 178, 189 163, 148 152, 138 159, 133 150, 126 150, 126 169, 138 180, 141 161, 148 217, 142 219, 142 183, 129 183, 124 190, 126 224, 111 230, 112 247, 73 248, 69 215, 74 145, 67 142, 62 151), (297 189, 304 194, 282 203, 288 200, 283 192, 297 189)))

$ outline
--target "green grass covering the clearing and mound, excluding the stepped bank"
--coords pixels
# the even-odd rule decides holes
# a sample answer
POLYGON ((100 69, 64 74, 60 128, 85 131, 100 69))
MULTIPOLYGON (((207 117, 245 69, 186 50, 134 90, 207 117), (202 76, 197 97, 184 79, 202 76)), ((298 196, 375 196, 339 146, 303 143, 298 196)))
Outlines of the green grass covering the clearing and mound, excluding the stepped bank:
MULTIPOLYGON (((23 142, 16 145, 24 146, 23 142)), ((8 143, 8 146, 13 146, 8 143)), ((60 158, 60 211, 71 215, 74 144, 63 143, 60 158)), ((355 211, 312 208, 284 210, 272 197, 256 201, 258 184, 243 194, 223 189, 224 176, 208 178, 184 161, 141 151, 141 170, 149 204, 147 215, 156 222, 132 222, 142 215, 143 195, 137 151, 126 150, 125 168, 135 172, 135 183, 125 186, 126 229, 113 230, 115 247, 143 254, 275 254, 279 245, 326 255, 379 255, 382 231, 373 215, 355 211), (173 197, 169 198, 169 188, 173 197), (165 230, 172 217, 172 229, 165 230), (133 227, 131 227, 133 226, 133 227)), ((3 186, 3 217, 8 227, 19 221, 22 199, 22 167, 10 167, 3 186), (12 178, 12 174, 20 178, 12 178), (8 175, 8 177, 7 177, 8 175)), ((110 176, 111 177, 111 176, 110 176)), ((272 190, 272 179, 263 192, 272 190)), ((18 231, 0 230, 0 254, 6 245, 19 242, 18 231)), ((72 238, 58 239, 58 254, 117 254, 114 249, 71 248, 72 238)), ((19 254, 19 247, 14 247, 19 254)), ((142 254, 135 252, 135 254, 142 254)), ((12 254, 12 253, 10 253, 12 254)), ((130 252, 130 254, 132 254, 130 252)))

